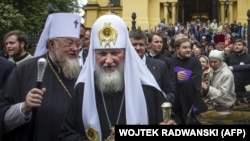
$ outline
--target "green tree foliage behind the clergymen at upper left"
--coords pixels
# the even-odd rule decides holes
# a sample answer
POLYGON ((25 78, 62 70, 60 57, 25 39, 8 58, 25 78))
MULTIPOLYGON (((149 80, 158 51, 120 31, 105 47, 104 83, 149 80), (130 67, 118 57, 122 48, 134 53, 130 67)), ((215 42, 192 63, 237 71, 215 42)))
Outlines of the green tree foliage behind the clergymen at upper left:
POLYGON ((0 46, 3 36, 11 30, 19 29, 28 35, 41 33, 49 14, 49 3, 53 5, 55 13, 73 12, 80 8, 77 0, 1 0, 0 46))

